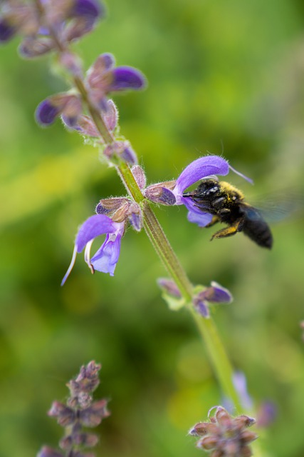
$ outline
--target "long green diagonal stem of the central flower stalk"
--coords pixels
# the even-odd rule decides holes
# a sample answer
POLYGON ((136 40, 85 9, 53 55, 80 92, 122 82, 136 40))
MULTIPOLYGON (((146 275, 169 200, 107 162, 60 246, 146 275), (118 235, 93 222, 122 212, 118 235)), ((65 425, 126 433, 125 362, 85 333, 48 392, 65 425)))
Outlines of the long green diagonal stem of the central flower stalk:
MULTIPOLYGON (((85 89, 85 85, 79 77, 75 78, 75 85, 80 91, 83 103, 88 107, 88 111, 93 118, 96 129, 98 129, 100 136, 103 138, 106 144, 111 144, 114 141, 112 134, 107 129, 107 126, 103 121, 103 117, 100 116, 100 113, 97 111, 97 109, 95 109, 95 107, 90 104, 90 99, 85 89)), ((155 251, 157 252, 157 255, 164 264, 164 267, 167 269, 169 275, 172 277, 174 282, 177 284, 179 291, 182 293, 182 296, 186 302, 186 306, 192 314, 192 317, 196 322, 196 326, 199 329, 201 338, 206 344, 206 349, 211 360, 211 365, 214 368, 216 378, 218 378, 224 395, 227 398, 231 399, 231 401, 234 403, 236 411, 241 413, 242 407, 239 399, 239 394, 237 393, 233 383, 234 370, 226 354, 224 345, 221 342, 219 333, 216 330, 214 321, 211 317, 208 319, 202 318, 202 316, 200 316, 194 310, 192 304, 192 283, 189 281, 187 273, 184 271, 184 268, 182 268, 179 259, 174 253, 172 246, 170 245, 167 236, 162 230, 162 227, 160 226, 150 203, 145 199, 145 196, 142 195, 142 191, 137 185, 130 166, 125 162, 120 161, 120 163, 116 166, 116 170, 117 174, 120 176, 120 179, 122 179, 128 194, 132 196, 132 199, 134 199, 137 204, 142 205, 143 226, 147 236, 150 239, 155 251)))

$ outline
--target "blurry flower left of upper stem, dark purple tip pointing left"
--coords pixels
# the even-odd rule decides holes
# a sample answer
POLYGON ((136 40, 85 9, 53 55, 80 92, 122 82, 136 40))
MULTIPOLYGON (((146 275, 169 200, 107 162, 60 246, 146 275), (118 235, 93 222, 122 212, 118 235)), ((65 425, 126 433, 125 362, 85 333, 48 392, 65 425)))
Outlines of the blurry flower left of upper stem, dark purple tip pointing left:
POLYGON ((55 119, 63 114, 67 124, 77 124, 82 111, 82 103, 79 96, 74 94, 57 94, 41 101, 36 109, 36 121, 41 126, 53 124, 55 119))

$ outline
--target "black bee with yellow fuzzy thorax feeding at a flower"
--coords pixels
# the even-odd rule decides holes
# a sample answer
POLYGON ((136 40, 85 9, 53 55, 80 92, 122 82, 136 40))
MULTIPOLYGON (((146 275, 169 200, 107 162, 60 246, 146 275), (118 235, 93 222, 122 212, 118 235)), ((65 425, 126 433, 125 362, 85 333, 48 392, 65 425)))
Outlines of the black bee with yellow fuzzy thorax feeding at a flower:
POLYGON ((197 189, 186 192, 183 196, 192 199, 196 208, 202 212, 212 214, 213 218, 206 227, 211 227, 216 222, 227 225, 214 233, 211 240, 226 238, 243 231, 258 246, 271 249, 271 229, 258 209, 246 203, 242 192, 236 187, 225 181, 204 179, 197 189))

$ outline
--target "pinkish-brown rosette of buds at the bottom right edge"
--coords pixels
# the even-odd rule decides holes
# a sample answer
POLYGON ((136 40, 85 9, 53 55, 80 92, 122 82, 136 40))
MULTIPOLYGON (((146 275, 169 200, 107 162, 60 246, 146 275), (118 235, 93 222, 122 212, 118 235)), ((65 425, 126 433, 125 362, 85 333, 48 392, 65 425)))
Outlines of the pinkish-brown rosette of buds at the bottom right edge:
POLYGON ((190 435, 199 436, 196 447, 209 451, 209 457, 250 457, 249 443, 258 438, 257 434, 248 431, 256 423, 249 416, 232 417, 221 406, 215 406, 214 416, 209 421, 199 422, 189 431, 190 435))

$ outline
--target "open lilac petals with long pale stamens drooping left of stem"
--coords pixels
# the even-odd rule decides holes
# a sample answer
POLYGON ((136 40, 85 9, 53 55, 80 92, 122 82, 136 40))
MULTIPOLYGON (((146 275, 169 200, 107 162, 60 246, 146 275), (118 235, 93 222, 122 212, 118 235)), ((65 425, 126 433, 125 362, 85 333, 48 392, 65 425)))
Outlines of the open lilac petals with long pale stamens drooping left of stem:
POLYGON ((92 273, 95 270, 114 275, 115 266, 120 256, 120 242, 125 231, 125 222, 114 222, 105 214, 95 214, 87 219, 78 230, 72 261, 68 271, 61 282, 65 283, 70 271, 72 270, 77 253, 85 248, 85 262, 88 264, 92 273), (90 258, 90 248, 94 239, 99 235, 106 235, 102 246, 90 258))

